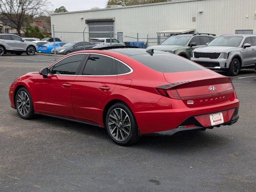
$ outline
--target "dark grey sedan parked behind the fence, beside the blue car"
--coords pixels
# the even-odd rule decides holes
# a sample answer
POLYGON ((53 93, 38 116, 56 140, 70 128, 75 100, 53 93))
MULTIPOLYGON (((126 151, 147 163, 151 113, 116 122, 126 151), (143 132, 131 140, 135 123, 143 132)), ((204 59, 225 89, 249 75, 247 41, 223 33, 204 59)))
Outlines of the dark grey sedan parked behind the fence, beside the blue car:
MULTIPOLYGON (((75 51, 90 49, 94 46, 94 44, 89 42, 74 41, 63 45, 62 47, 56 48, 55 51, 56 54, 66 55, 75 51)), ((51 53, 54 53, 54 49, 51 50, 51 53)))

